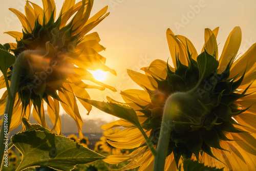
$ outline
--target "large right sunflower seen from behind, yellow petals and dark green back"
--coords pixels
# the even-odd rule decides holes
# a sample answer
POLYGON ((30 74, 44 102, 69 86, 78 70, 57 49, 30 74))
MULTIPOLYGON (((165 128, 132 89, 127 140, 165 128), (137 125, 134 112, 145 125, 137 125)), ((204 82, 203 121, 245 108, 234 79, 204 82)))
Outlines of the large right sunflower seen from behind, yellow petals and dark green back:
MULTIPOLYGON (((184 159, 225 167, 224 170, 256 169, 256 44, 238 57, 242 33, 240 27, 235 27, 219 57, 218 30, 205 29, 205 43, 198 55, 189 39, 168 29, 167 42, 175 68, 157 59, 141 69, 145 74, 127 70, 143 90, 125 90, 120 94, 136 110, 155 148, 165 106, 173 106, 167 111, 172 122, 163 125, 170 129, 164 170, 177 170, 184 159)), ((138 166, 139 170, 153 170, 154 156, 139 129, 124 120, 101 128, 116 126, 125 129, 109 135, 108 142, 114 147, 135 150, 126 156, 111 155, 104 161, 131 161, 117 170, 138 166)))

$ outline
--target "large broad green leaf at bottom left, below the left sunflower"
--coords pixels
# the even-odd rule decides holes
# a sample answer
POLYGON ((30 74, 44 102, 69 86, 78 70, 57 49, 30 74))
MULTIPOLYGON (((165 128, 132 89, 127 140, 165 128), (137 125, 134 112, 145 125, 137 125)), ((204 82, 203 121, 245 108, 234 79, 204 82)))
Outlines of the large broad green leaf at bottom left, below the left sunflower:
POLYGON ((69 138, 45 131, 27 131, 12 137, 13 144, 23 155, 17 171, 33 166, 48 166, 72 170, 77 164, 104 159, 104 156, 75 143, 69 138))

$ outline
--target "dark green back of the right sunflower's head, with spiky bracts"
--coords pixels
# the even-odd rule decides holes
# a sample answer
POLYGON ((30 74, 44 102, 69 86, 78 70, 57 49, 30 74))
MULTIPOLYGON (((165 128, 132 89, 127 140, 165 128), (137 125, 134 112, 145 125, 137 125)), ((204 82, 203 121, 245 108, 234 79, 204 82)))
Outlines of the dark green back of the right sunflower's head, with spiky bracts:
POLYGON ((157 90, 147 90, 151 103, 139 110, 148 116, 142 127, 155 130, 151 133, 151 137, 154 137, 155 132, 159 131, 162 107, 165 106, 171 118, 166 126, 172 130, 168 154, 178 156, 176 161, 180 156, 183 159, 191 158, 192 154, 199 159, 200 151, 214 157, 210 147, 223 149, 219 141, 228 140, 225 132, 241 132, 233 126, 238 124, 233 116, 247 110, 234 104, 246 96, 247 89, 238 93, 244 75, 236 81, 229 78, 230 62, 226 70, 218 74, 218 60, 206 51, 197 57, 197 61, 191 56, 188 59, 188 66, 185 66, 177 57, 174 72, 167 65, 166 78, 155 78, 157 90), (154 120, 159 121, 158 126, 156 122, 153 123, 154 120))

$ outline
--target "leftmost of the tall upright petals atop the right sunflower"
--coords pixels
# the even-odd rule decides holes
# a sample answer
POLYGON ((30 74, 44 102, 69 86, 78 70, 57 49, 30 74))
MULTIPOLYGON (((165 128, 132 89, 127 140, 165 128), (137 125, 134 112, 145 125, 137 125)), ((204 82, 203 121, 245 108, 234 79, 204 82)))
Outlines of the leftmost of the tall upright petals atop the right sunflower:
POLYGON ((179 54, 179 59, 183 65, 187 65, 186 53, 184 45, 178 40, 172 30, 167 29, 166 37, 168 42, 168 47, 170 51, 170 56, 173 59, 174 67, 176 68, 176 56, 179 54))

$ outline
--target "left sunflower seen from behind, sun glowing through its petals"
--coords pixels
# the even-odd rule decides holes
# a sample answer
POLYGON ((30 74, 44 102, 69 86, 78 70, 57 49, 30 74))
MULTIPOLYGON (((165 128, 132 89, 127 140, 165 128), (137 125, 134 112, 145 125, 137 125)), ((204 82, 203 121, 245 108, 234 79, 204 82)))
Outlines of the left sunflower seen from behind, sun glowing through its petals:
MULTIPOLYGON (((10 130, 17 127, 22 118, 29 120, 33 105, 33 118, 43 127, 48 128, 45 119, 45 109, 53 122, 52 132, 61 134, 59 103, 75 121, 79 138, 82 138, 82 119, 78 110, 76 97, 90 98, 86 89, 104 90, 109 88, 94 79, 88 70, 116 72, 105 66, 105 58, 98 52, 105 50, 99 44, 97 32, 89 33, 109 13, 104 7, 90 17, 93 0, 65 0, 56 18, 54 0, 42 0, 43 8, 26 1, 25 15, 13 8, 22 23, 22 32, 5 32, 16 39, 16 43, 5 44, 7 51, 17 57, 23 52, 25 58, 20 77, 15 108, 11 119, 10 130), (82 80, 92 81, 99 86, 92 86, 82 80), (47 106, 44 106, 47 104, 47 106)), ((10 67, 8 79, 11 80, 13 67, 10 67)), ((0 89, 5 88, 4 76, 0 78, 0 89)), ((4 114, 7 91, 3 94, 0 113, 4 114)), ((92 106, 78 99, 88 114, 92 106)), ((1 120, 1 123, 3 119, 1 120)))

